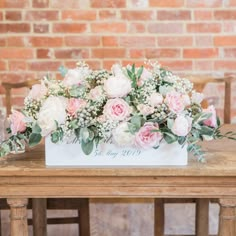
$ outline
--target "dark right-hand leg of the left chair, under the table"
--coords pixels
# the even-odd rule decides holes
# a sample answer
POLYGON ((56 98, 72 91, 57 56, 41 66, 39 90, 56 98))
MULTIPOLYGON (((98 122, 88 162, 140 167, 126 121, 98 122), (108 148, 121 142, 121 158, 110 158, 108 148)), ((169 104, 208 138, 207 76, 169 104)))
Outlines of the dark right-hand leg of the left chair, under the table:
POLYGON ((89 199, 80 199, 79 236, 90 236, 89 199))

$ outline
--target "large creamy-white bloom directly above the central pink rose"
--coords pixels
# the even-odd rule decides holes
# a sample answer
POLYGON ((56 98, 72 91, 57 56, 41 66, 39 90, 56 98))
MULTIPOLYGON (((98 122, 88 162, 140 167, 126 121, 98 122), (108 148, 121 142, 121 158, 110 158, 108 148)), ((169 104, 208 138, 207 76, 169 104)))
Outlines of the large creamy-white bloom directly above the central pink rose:
POLYGON ((131 89, 131 81, 125 76, 110 77, 104 82, 104 90, 109 98, 125 97, 131 89))

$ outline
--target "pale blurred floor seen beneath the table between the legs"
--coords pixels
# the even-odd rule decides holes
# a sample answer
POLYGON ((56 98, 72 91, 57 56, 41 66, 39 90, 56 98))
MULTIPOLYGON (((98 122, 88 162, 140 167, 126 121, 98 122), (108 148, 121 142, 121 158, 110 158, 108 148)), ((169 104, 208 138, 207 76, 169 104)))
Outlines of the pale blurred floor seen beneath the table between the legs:
MULTIPOLYGON (((166 235, 194 235, 194 205, 167 204, 165 208, 166 235), (181 216, 181 217, 180 217, 181 216)), ((9 233, 9 212, 2 211, 3 236, 9 233)), ((76 211, 48 211, 53 215, 75 215, 76 211)), ((217 204, 210 205, 210 234, 218 231, 217 204)), ((30 212, 29 212, 30 215, 30 212)), ((90 203, 91 236, 152 236, 153 201, 152 200, 93 200, 90 203)), ((32 227, 29 227, 33 236, 32 227)), ((48 236, 78 236, 77 225, 50 225, 48 236)))

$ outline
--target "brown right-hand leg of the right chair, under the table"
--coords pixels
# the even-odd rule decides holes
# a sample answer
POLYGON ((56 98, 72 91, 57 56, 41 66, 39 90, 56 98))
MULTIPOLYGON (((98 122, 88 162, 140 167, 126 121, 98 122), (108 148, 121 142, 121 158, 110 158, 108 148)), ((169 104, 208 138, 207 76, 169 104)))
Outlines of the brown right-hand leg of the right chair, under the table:
POLYGON ((209 199, 196 200, 196 236, 208 236, 209 199))

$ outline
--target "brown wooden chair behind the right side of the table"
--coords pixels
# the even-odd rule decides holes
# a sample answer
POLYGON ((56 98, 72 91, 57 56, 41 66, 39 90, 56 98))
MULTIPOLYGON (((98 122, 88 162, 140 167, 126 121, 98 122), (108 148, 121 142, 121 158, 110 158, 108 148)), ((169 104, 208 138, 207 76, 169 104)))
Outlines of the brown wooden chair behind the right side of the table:
MULTIPOLYGON (((231 121, 231 83, 232 77, 213 78, 209 76, 189 76, 187 77, 194 84, 197 92, 202 92, 209 83, 224 83, 224 123, 229 124, 231 121)), ((207 106, 207 100, 203 101, 203 107, 207 106)), ((195 203, 196 204, 196 236, 208 236, 209 228, 209 203, 217 202, 217 199, 155 199, 154 200, 154 220, 155 220, 155 236, 164 236, 164 216, 165 203, 195 203)))

